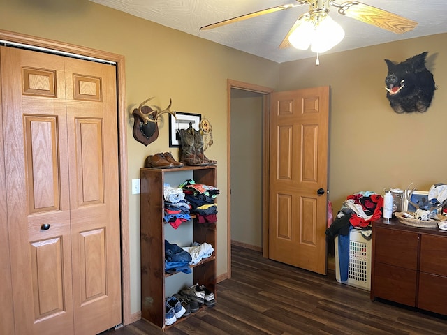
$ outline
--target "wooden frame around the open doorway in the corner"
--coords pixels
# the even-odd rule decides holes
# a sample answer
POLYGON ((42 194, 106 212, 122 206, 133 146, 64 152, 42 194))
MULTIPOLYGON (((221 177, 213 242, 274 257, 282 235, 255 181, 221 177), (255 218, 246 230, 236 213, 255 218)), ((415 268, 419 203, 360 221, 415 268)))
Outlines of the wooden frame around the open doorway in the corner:
MULTIPOLYGON (((244 91, 263 94, 263 166, 268 166, 269 156, 269 125, 270 125, 270 93, 274 91, 270 87, 264 87, 247 82, 227 79, 227 278, 231 278, 231 89, 242 89, 244 91)), ((263 206, 263 257, 268 258, 268 170, 263 171, 262 181, 262 206, 263 206)))

